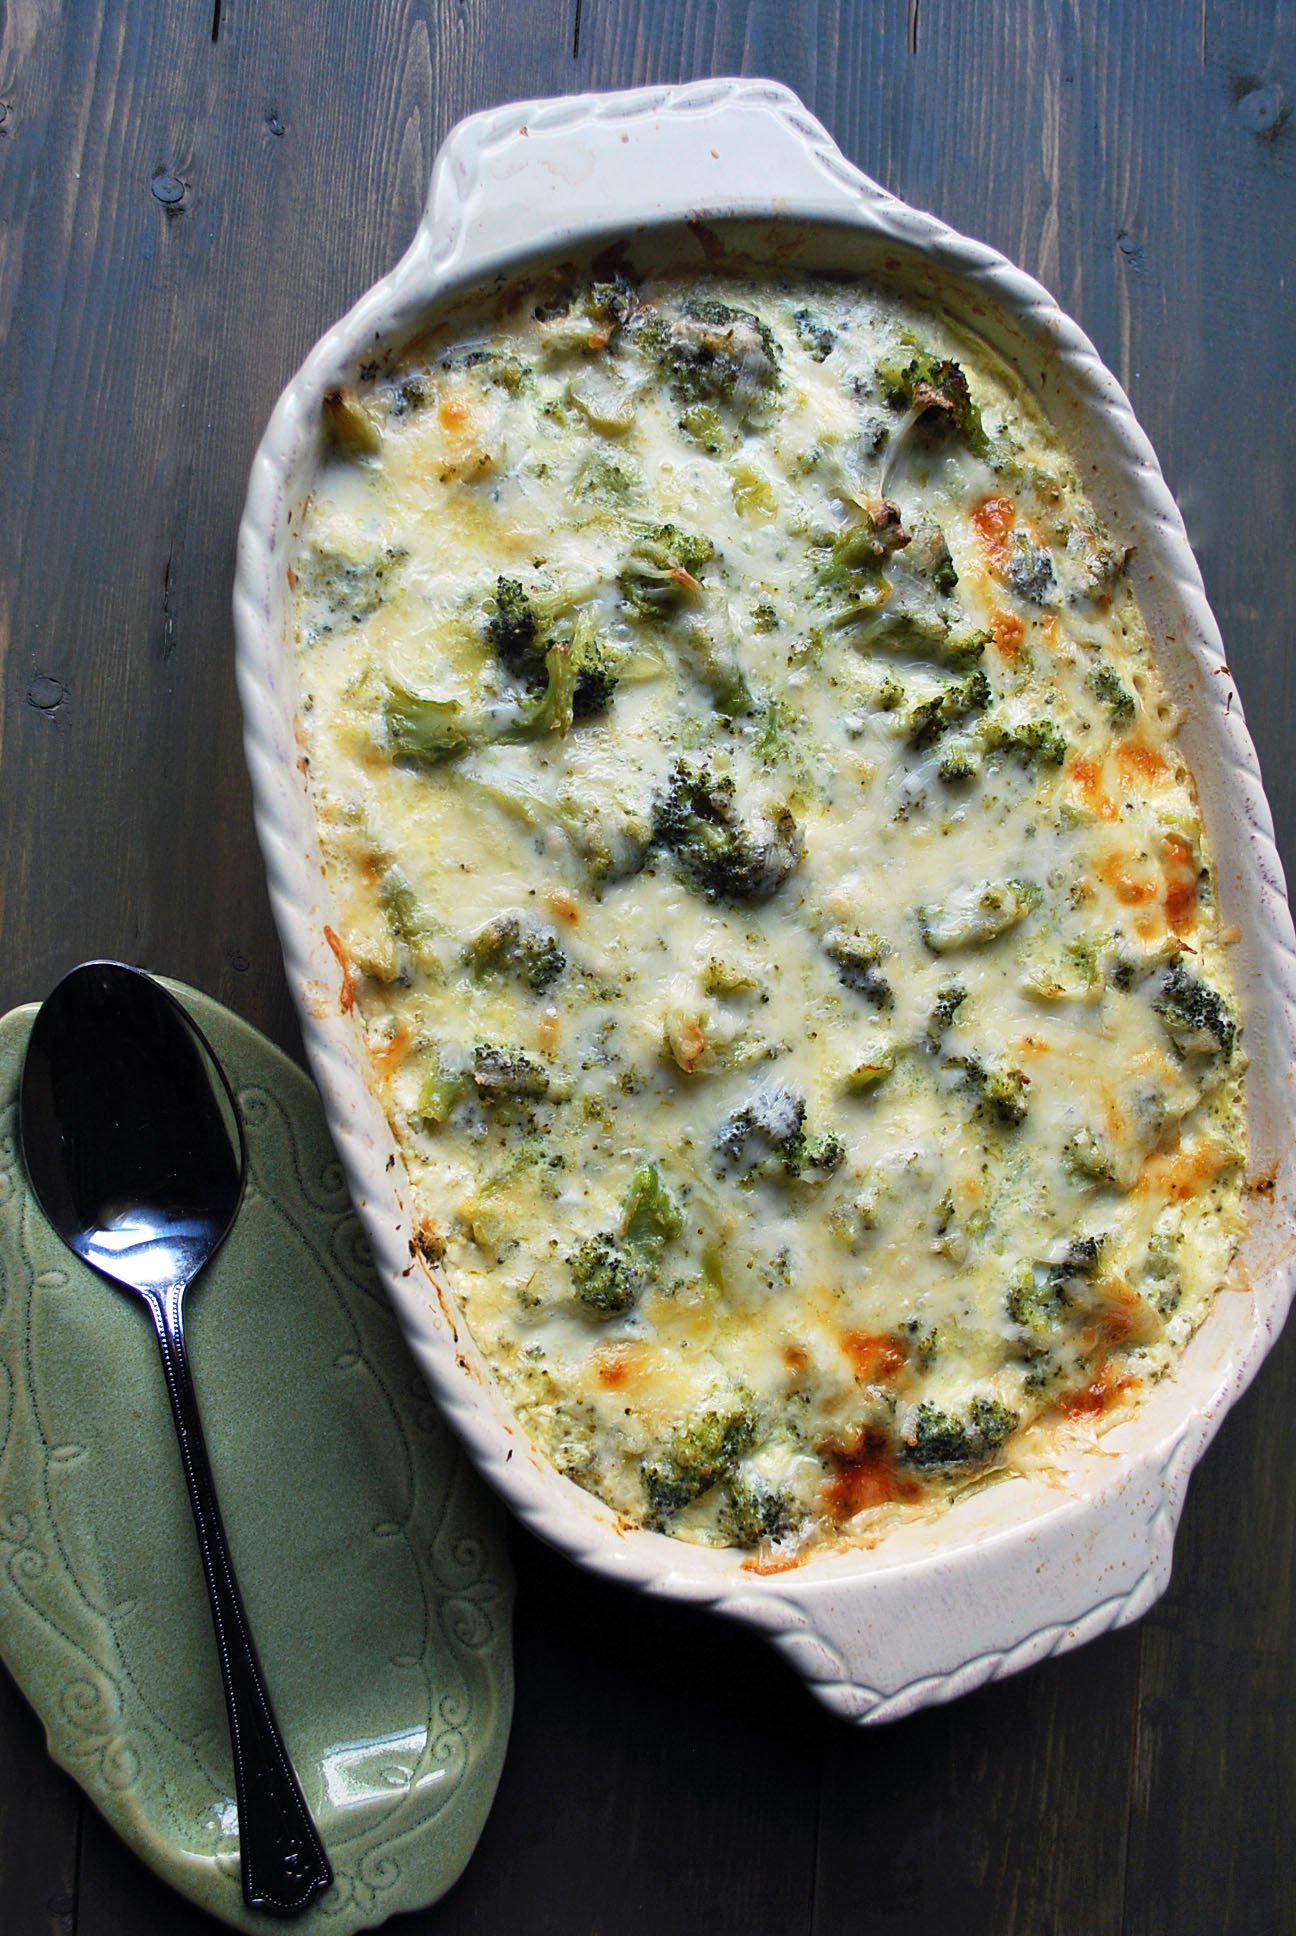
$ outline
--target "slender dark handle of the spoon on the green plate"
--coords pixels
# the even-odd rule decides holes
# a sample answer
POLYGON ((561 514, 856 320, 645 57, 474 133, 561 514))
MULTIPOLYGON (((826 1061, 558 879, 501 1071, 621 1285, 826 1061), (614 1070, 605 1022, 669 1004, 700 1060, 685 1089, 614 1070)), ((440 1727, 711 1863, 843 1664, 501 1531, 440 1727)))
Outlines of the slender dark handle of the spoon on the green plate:
POLYGON ((180 1460, 198 1528, 198 1547, 211 1601, 221 1680, 234 1752, 238 1860, 248 1909, 294 1917, 310 1909, 333 1880, 310 1818, 242 1611, 234 1564, 221 1526, 198 1400, 190 1380, 182 1322, 184 1286, 147 1299, 180 1440, 180 1460))

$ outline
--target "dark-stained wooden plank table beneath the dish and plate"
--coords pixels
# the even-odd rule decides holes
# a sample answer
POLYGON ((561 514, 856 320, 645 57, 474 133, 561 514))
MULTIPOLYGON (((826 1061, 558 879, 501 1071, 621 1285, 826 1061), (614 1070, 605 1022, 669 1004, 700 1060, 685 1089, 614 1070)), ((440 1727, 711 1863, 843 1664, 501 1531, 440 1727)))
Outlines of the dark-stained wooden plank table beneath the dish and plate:
MULTIPOLYGON (((1290 854, 1290 0, 8 0, 0 1009, 112 953, 298 1049, 229 618, 275 395, 405 248, 461 114, 728 72, 788 81, 1096 341, 1184 505, 1290 854)), ((881 1731, 515 1533, 494 1814, 449 1897, 391 1928, 1290 1936, 1294 1413, 1288 1332, 1141 1626, 881 1731)), ((116 1843, 4 1675, 0 1928, 217 1928, 116 1843)))

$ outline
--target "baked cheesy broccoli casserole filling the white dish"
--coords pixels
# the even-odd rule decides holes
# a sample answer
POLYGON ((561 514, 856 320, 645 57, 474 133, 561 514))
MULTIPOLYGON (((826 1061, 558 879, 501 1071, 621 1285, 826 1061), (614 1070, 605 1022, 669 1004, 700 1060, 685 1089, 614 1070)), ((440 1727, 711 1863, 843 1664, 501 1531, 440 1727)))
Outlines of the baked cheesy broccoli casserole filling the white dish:
POLYGON ((554 1466, 781 1564, 1162 1373, 1244 1057, 1124 550, 1007 372, 858 285, 533 288, 325 451, 333 939, 554 1466))

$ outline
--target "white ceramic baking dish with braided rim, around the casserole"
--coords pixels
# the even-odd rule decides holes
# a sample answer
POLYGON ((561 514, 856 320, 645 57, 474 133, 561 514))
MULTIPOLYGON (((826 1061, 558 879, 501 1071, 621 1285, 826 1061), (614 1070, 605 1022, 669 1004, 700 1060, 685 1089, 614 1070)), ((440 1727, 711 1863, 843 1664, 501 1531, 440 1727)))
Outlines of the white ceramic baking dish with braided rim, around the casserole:
POLYGON ((767 1632, 839 1713, 949 1700, 1137 1618, 1164 1589, 1188 1475, 1253 1376, 1290 1299, 1296 974, 1259 769, 1182 519, 1127 399, 1085 335, 1002 256, 852 168, 785 87, 701 81, 533 101, 453 130, 403 261, 312 350, 258 451, 234 592, 246 751, 306 1047, 356 1206, 444 1411, 537 1533, 616 1580, 767 1632), (1060 430, 1133 575, 1197 774, 1250 1053, 1251 1191, 1232 1287, 1174 1376, 1046 1477, 1013 1477, 868 1551, 759 1576, 736 1551, 618 1526, 535 1452, 453 1303, 411 1247, 399 1154, 366 1078, 329 949, 294 736, 287 550, 320 457, 320 403, 432 314, 537 265, 620 244, 639 265, 717 252, 856 271, 949 308, 1013 364, 1060 430))

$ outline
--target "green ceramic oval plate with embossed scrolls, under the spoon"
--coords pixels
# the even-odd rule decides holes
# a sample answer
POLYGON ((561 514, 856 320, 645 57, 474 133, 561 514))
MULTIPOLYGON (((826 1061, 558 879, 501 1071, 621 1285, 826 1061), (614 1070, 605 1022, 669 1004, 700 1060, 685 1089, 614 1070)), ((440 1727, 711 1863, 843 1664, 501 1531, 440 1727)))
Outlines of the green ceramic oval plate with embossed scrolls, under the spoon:
MULTIPOLYGON (((502 1526, 370 1270, 308 1078, 176 987, 238 1094, 250 1177, 190 1291, 190 1361, 244 1603, 333 1864, 296 1926, 436 1901, 511 1713, 502 1526)), ((0 1653, 50 1754, 176 1890, 244 1909, 225 1704, 147 1315, 35 1208, 0 1020, 0 1653)))

